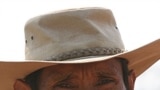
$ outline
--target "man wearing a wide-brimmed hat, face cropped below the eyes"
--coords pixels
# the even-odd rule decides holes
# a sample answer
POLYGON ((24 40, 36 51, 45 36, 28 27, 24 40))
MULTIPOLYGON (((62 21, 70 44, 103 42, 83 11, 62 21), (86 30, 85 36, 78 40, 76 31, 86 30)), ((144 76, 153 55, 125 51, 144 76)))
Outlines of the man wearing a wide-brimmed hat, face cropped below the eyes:
POLYGON ((126 52, 112 12, 66 10, 25 26, 26 60, 0 62, 2 90, 134 90, 160 59, 160 40, 126 52))

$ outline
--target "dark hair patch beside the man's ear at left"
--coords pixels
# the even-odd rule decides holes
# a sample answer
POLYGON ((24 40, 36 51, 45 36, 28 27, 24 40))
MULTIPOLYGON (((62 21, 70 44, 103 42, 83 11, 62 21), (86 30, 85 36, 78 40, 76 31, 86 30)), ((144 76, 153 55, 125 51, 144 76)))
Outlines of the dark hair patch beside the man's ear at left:
POLYGON ((24 81, 31 87, 31 90, 38 90, 38 83, 43 69, 39 69, 24 78, 24 81))

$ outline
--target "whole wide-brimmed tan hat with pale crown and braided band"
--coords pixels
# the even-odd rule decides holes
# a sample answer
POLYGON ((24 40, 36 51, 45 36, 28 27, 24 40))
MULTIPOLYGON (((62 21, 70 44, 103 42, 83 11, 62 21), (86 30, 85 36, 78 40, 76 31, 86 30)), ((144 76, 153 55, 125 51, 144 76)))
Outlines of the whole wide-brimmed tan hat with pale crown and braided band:
MULTIPOLYGON (((144 33, 145 34, 145 33, 144 33)), ((25 26, 25 61, 0 62, 0 89, 13 90, 16 79, 57 64, 125 58, 139 76, 160 59, 160 40, 126 51, 112 12, 104 8, 64 10, 37 16, 25 26)))

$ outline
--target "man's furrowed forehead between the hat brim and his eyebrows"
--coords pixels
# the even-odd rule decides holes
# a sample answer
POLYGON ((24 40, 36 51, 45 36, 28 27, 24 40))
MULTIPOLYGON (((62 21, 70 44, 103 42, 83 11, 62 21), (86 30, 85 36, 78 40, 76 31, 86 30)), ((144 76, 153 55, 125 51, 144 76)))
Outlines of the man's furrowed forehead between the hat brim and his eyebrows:
POLYGON ((43 72, 48 74, 73 74, 81 71, 114 73, 121 67, 118 59, 110 59, 101 62, 85 63, 85 64, 59 64, 44 68, 43 72))

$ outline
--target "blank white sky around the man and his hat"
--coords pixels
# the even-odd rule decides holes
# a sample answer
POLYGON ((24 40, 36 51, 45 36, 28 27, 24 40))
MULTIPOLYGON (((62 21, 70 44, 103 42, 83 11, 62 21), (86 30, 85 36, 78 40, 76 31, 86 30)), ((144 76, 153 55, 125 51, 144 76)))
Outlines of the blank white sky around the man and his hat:
MULTIPOLYGON (((158 0, 0 0, 0 60, 24 60, 24 25, 29 18, 80 7, 111 9, 127 50, 160 37, 158 0)), ((160 90, 160 61, 137 78, 135 90, 160 90)))

